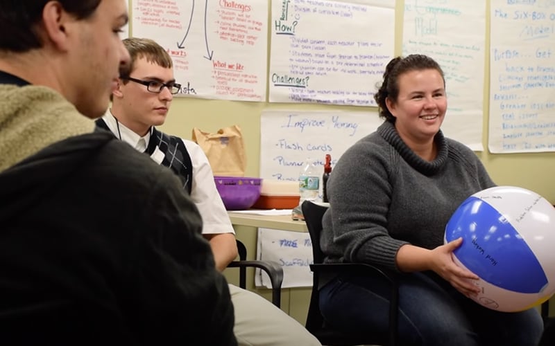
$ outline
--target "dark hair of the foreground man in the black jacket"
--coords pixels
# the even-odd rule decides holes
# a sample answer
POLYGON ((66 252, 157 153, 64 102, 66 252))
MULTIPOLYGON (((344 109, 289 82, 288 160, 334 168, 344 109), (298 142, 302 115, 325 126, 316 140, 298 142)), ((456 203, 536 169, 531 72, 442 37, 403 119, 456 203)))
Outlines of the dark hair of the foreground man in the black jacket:
MULTIPOLYGON (((58 0, 77 19, 90 17, 102 0, 58 0)), ((49 0, 0 0, 0 51, 26 52, 40 48, 37 24, 49 0)))

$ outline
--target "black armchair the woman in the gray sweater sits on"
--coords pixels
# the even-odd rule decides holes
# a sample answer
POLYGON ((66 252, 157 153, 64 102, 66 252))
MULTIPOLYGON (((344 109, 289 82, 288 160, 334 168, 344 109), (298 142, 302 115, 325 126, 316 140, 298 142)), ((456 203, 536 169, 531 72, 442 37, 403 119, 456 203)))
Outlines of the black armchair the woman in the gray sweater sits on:
POLYGON ((314 255, 314 264, 310 265, 313 272, 312 293, 310 297, 309 310, 307 315, 307 330, 316 336, 323 344, 329 346, 349 346, 349 345, 389 345, 394 346, 397 343, 397 316, 398 316, 398 284, 395 276, 391 275, 385 269, 378 268, 370 264, 361 263, 334 263, 324 264, 324 255, 320 248, 320 233, 322 230, 322 217, 327 207, 320 206, 311 201, 304 201, 301 205, 302 215, 305 217, 310 239, 312 242, 312 254, 314 255), (320 311, 319 292, 322 277, 331 277, 336 273, 357 273, 365 275, 365 273, 379 273, 383 275, 391 283, 391 300, 389 304, 389 330, 384 334, 360 334, 343 333, 330 326, 320 311))

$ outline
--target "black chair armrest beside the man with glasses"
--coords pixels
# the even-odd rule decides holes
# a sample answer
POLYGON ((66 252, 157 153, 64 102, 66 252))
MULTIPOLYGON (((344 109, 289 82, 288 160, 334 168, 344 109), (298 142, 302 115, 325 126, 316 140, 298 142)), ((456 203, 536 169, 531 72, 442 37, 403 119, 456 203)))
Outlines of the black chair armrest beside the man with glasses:
POLYGON ((239 268, 239 287, 246 289, 246 268, 260 268, 268 274, 272 284, 272 303, 276 307, 281 307, 283 268, 278 262, 266 260, 247 260, 247 248, 245 244, 237 240, 237 252, 239 253, 239 261, 233 261, 228 264, 228 268, 239 268))

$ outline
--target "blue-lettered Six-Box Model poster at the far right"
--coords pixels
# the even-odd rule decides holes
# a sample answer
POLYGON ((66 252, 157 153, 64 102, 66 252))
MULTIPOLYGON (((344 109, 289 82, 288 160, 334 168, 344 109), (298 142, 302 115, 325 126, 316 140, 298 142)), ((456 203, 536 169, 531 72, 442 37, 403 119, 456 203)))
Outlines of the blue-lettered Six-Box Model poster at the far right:
POLYGON ((555 1, 491 1, 489 149, 555 151, 555 1))

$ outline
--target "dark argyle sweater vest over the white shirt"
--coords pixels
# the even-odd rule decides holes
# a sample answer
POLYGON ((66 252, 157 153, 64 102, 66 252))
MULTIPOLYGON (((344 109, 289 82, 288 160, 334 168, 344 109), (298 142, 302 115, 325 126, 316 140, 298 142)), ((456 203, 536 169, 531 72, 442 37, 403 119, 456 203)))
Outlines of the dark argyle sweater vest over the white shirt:
MULTIPOLYGON (((96 126, 110 131, 108 125, 102 119, 96 120, 96 126)), ((177 174, 183 184, 183 188, 187 193, 191 194, 193 164, 183 140, 176 136, 164 134, 164 132, 160 132, 155 127, 152 127, 151 139, 148 141, 148 147, 144 153, 151 156, 156 147, 164 153, 164 160, 161 165, 169 167, 177 174)))

